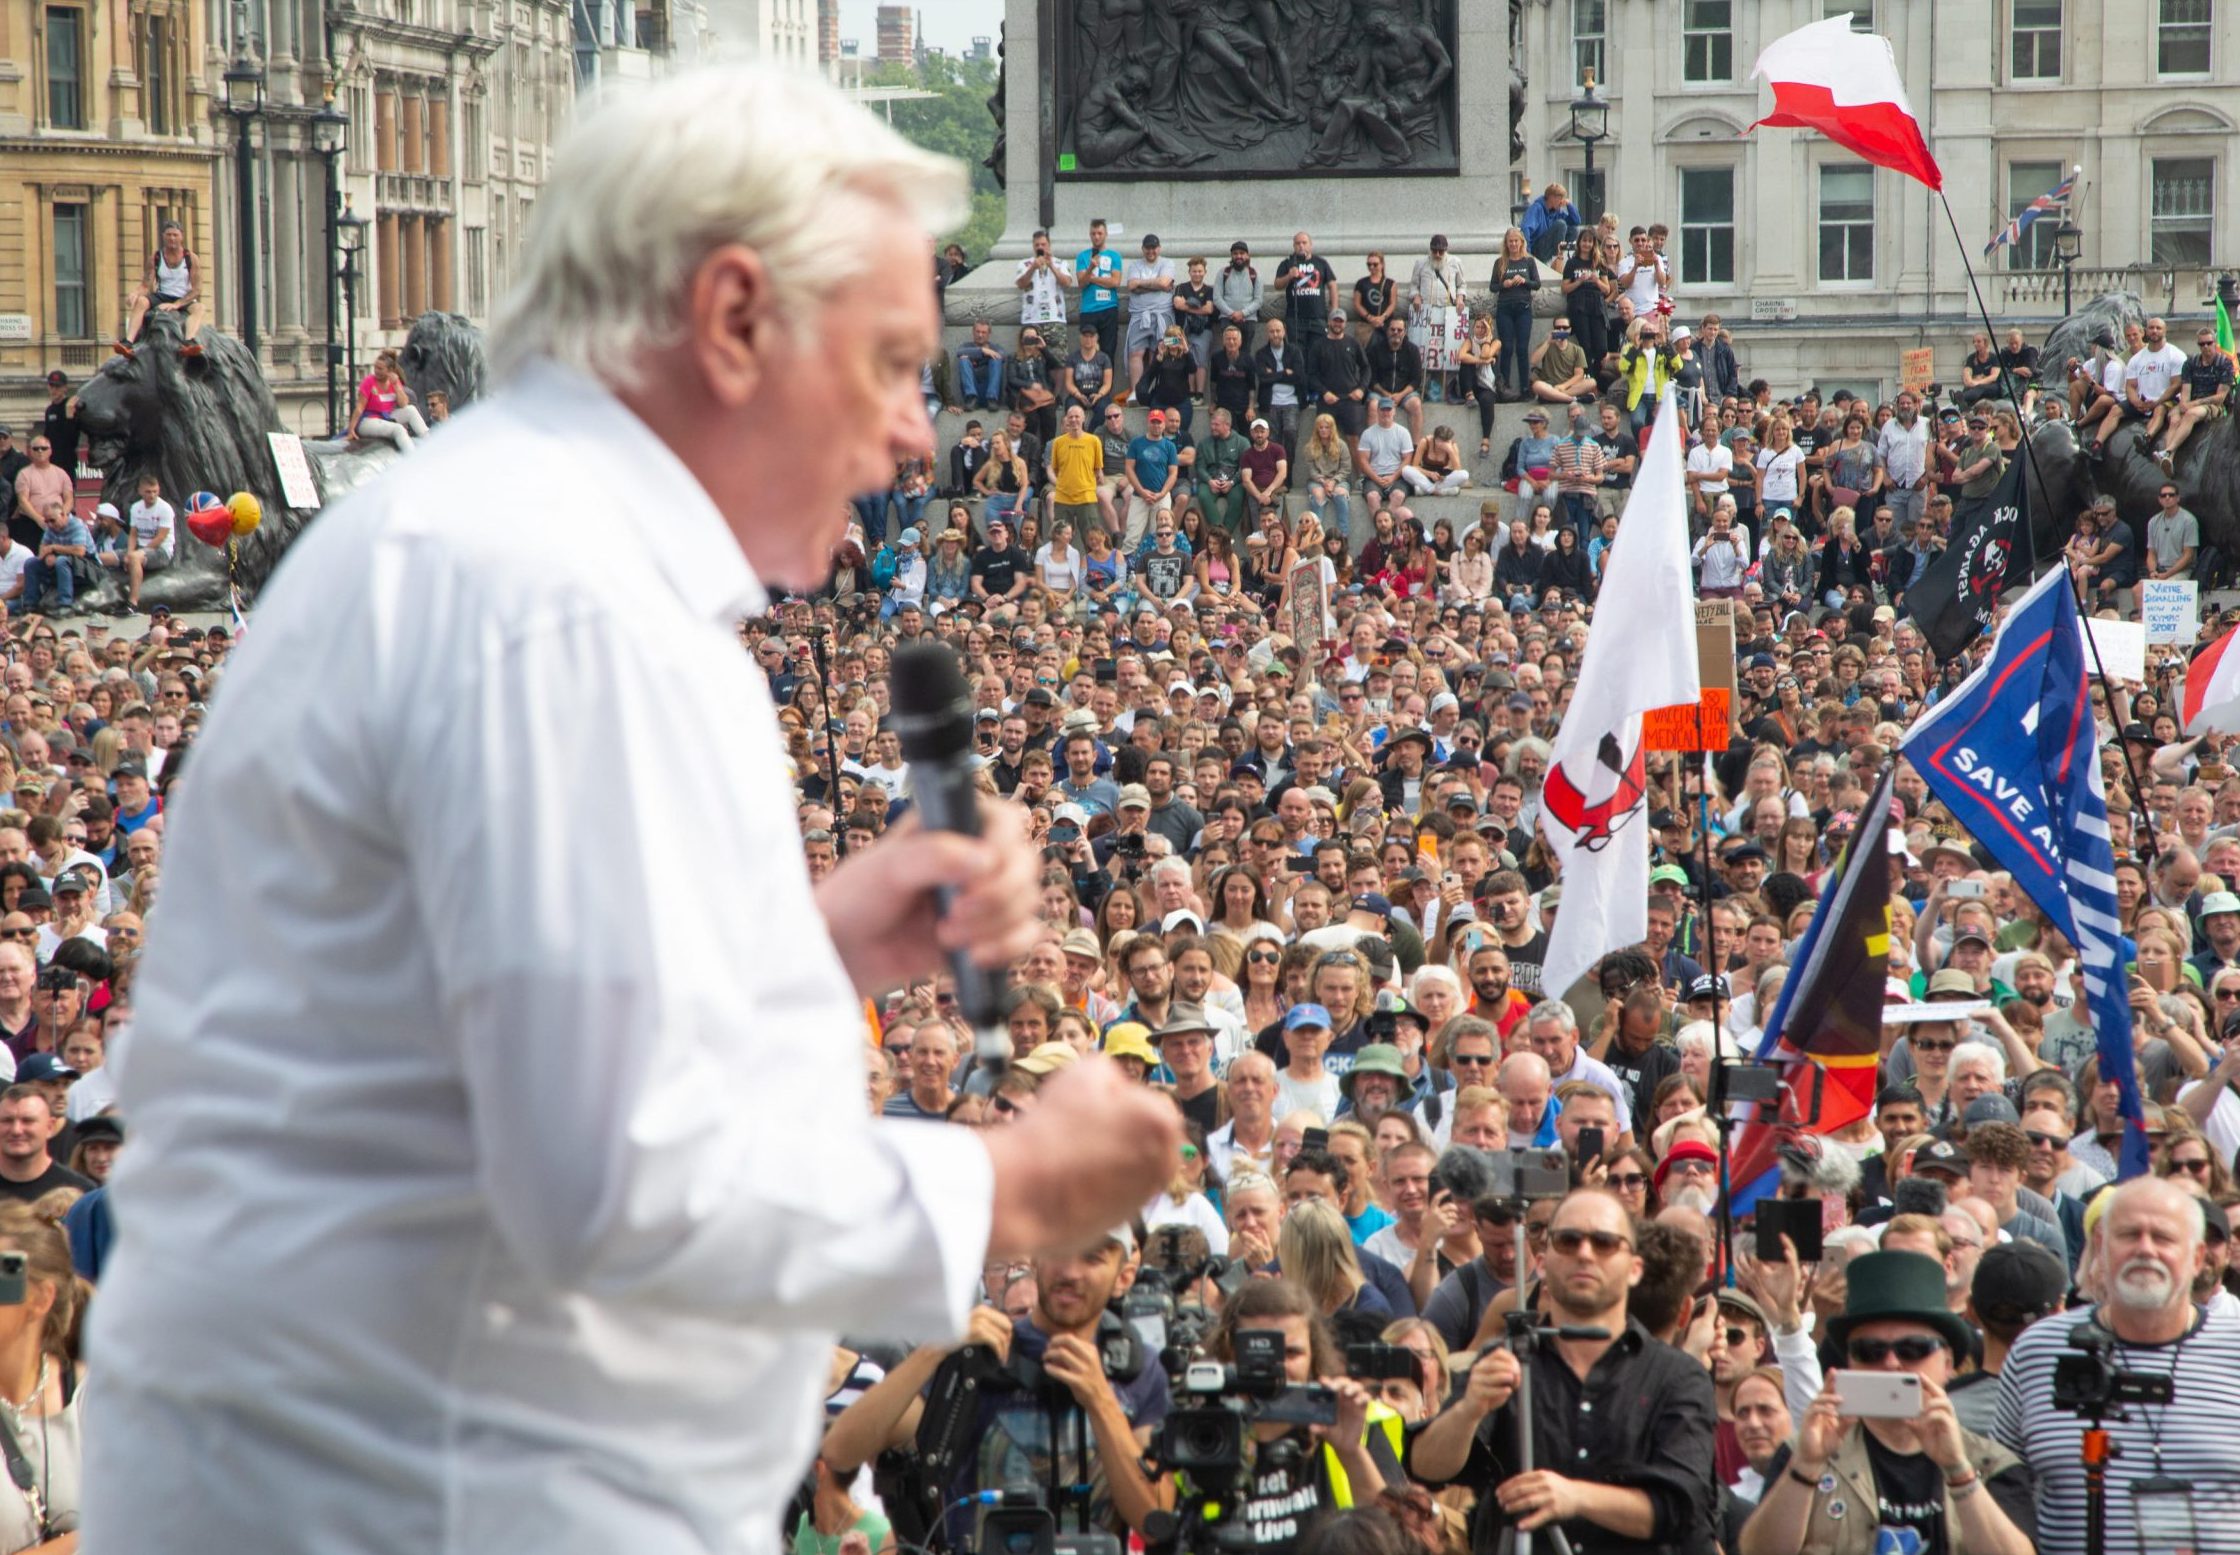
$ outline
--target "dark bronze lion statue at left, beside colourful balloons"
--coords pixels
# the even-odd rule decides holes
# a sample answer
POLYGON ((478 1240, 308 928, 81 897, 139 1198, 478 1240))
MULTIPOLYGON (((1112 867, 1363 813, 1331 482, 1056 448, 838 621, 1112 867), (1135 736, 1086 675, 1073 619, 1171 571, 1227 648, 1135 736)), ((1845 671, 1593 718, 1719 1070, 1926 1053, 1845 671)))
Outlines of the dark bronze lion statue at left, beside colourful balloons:
POLYGON ((240 542, 235 558, 235 578, 251 589, 302 529, 302 518, 280 495, 264 441, 280 430, 280 410, 255 359, 217 329, 202 329, 195 343, 202 350, 186 354, 181 316, 152 311, 132 352, 112 356, 78 390, 78 423, 87 462, 103 471, 103 500, 125 509, 139 477, 155 475, 181 509, 177 562, 141 589, 143 603, 172 609, 215 609, 226 600, 226 553, 186 533, 188 493, 253 491, 264 504, 264 522, 240 542))

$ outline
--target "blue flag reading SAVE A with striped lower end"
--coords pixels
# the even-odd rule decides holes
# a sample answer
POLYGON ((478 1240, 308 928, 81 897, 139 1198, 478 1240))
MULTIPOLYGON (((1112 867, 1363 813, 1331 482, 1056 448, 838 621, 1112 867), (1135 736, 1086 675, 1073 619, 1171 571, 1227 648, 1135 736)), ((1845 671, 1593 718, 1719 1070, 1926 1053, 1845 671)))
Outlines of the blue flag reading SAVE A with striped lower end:
POLYGON ((1902 753, 2076 946, 2099 1073, 2121 1093, 2121 1174, 2137 1176, 2148 1165, 2146 1116, 2090 690, 2076 596, 2068 569, 2054 567, 2007 612, 1991 657, 1920 717, 1902 753))

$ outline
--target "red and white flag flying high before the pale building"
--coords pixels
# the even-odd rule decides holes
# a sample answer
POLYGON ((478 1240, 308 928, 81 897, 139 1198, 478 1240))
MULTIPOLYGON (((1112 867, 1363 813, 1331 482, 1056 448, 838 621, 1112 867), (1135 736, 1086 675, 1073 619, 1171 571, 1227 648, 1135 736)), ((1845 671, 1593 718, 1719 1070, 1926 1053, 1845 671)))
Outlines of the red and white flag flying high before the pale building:
POLYGON ((1830 16, 1767 43, 1749 76, 1774 87, 1774 112, 1758 123, 1819 130, 1877 168, 1944 188, 1888 38, 1852 31, 1848 16, 1830 16))

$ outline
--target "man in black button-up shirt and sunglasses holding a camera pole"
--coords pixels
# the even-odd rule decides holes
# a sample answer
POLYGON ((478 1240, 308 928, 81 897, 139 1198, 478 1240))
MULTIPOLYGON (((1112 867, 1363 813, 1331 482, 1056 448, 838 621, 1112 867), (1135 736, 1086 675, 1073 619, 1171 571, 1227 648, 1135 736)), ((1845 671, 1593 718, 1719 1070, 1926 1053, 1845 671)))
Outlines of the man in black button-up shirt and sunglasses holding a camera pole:
POLYGON ((1546 1295, 1564 1324, 1608 1338, 1550 1338, 1519 1362, 1487 1349, 1463 1396, 1422 1427, 1407 1470, 1425 1483, 1478 1492, 1476 1548, 1505 1519, 1561 1524, 1579 1555, 1711 1546, 1711 1378, 1649 1335, 1628 1311, 1642 1277, 1635 1223, 1606 1188, 1575 1188, 1548 1226, 1546 1295), (1519 1474, 1512 1396, 1532 1367, 1532 1472, 1519 1474))

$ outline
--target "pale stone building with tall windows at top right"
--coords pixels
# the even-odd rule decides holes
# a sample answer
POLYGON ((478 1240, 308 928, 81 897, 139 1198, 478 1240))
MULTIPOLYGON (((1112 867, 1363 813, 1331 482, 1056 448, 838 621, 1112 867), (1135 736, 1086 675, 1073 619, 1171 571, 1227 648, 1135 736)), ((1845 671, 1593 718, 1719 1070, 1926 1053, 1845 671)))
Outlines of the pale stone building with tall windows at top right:
MULTIPOLYGON (((1897 352, 1958 372, 1973 323, 1967 244, 2000 325, 2061 316, 2050 215, 2020 249, 1994 231, 2083 168, 2074 296, 2108 289, 2202 314, 2240 262, 2240 0, 1523 0, 1519 181, 1559 177, 1624 224, 1671 226, 1680 316, 1718 311, 1776 390, 1893 388, 1897 352), (1852 13, 1897 54, 1960 226, 1920 184, 1803 130, 1743 130, 1772 38, 1852 13), (1570 137, 1586 72, 1608 139, 1570 137)), ((1521 190, 1519 190, 1521 193, 1521 190)), ((1586 206, 1586 199, 1581 199, 1586 206)))

